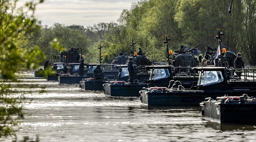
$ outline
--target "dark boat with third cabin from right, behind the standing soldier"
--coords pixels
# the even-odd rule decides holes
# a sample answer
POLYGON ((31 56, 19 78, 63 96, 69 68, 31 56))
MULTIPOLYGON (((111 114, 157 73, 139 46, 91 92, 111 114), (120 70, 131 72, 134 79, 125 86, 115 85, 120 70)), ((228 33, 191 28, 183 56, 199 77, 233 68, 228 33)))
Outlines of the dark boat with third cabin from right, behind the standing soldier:
MULTIPOLYGON (((142 67, 138 67, 134 65, 134 67, 137 69, 138 74, 134 76, 135 79, 138 81, 144 81, 146 78, 146 72, 141 72, 141 70, 138 70, 142 67)), ((115 65, 114 68, 116 68, 115 71, 115 77, 114 79, 102 79, 102 80, 95 80, 94 78, 85 78, 80 81, 80 87, 83 90, 103 90, 103 84, 107 82, 125 82, 129 79, 129 72, 127 69, 127 65, 115 65)))

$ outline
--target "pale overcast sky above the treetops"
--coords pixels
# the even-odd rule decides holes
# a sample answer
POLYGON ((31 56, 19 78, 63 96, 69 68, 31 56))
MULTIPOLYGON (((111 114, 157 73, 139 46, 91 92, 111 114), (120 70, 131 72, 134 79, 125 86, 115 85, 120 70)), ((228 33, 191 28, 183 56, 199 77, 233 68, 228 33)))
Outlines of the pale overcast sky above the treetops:
MULTIPOLYGON (((28 1, 28 0, 21 0, 28 1)), ((116 22, 123 9, 130 9, 139 0, 45 0, 38 4, 35 17, 42 25, 89 25, 116 22)))

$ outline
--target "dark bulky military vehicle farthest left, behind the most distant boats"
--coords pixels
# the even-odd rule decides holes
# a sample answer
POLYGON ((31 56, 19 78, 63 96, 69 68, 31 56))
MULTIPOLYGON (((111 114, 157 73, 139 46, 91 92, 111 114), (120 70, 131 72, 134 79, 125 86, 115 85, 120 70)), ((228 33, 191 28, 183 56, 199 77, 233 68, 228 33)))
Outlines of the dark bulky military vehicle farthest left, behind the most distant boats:
POLYGON ((56 56, 59 59, 60 63, 79 63, 83 58, 82 53, 79 54, 79 50, 82 51, 82 48, 73 48, 65 49, 60 52, 59 56, 56 56))

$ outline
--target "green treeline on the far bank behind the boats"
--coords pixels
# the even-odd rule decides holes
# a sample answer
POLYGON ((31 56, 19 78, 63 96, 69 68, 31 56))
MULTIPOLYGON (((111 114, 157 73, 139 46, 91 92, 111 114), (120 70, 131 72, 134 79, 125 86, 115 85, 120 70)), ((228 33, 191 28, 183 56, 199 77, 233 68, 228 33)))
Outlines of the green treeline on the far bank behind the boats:
MULTIPOLYGON (((235 53, 241 52, 247 64, 256 65, 256 0, 235 0, 231 15, 228 9, 232 0, 142 0, 124 9, 118 23, 98 23, 93 26, 63 25, 41 26, 30 37, 30 44, 37 45, 47 58, 54 62, 60 51, 51 48, 54 38, 63 48, 82 47, 85 61, 98 63, 99 44, 103 46, 103 62, 128 52, 132 39, 135 51, 141 47, 146 56, 158 62, 166 60, 164 35, 171 39, 169 49, 179 45, 193 47, 204 41, 212 48, 218 47, 215 39, 217 28, 225 35, 222 44, 235 53), (228 37, 229 33, 229 37, 228 37)), ((197 46, 203 53, 206 46, 197 46)))

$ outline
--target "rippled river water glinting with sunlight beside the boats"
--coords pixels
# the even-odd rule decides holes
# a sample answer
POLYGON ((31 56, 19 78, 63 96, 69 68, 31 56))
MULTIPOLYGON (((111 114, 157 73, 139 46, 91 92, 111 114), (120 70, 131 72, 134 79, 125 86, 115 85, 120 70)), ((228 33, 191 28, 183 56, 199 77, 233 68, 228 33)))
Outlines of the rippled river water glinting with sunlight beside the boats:
MULTIPOLYGON (((111 98, 103 91, 17 74, 12 90, 24 95, 18 139, 40 142, 256 141, 256 125, 201 119, 200 107, 148 108, 139 98, 111 98), (19 87, 23 85, 23 87, 19 87), (42 89, 44 91, 41 91, 42 89)), ((11 141, 11 139, 0 139, 11 141)))

